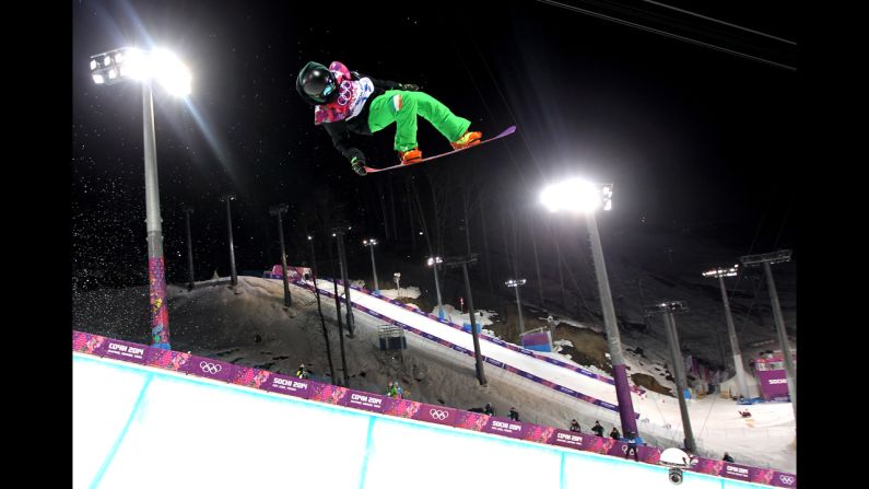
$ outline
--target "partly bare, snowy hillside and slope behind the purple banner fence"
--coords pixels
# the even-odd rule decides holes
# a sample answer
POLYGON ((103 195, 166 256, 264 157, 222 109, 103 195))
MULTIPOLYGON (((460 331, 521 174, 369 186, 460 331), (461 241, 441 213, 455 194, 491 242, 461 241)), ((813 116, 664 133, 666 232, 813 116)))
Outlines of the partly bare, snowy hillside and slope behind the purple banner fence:
MULTIPOLYGON (((404 287, 401 289, 403 296, 404 287)), ((305 362, 315 370, 316 376, 322 377, 328 368, 314 294, 292 287, 294 302, 289 311, 282 306, 282 294, 280 281, 251 277, 239 277, 236 291, 230 290, 225 280, 198 283, 197 289, 190 292, 183 288, 169 287, 173 348, 281 373, 292 373, 300 362, 305 362)), ((384 295, 388 296, 386 293, 384 295)), ((422 315, 365 294, 357 293, 351 296, 354 301, 366 302, 366 306, 376 302, 386 304, 389 307, 386 305, 378 307, 390 311, 390 315, 394 314, 402 322, 407 319, 415 323, 425 319, 422 315)), ((322 299, 322 311, 330 331, 332 361, 337 376, 340 376, 338 337, 333 322, 334 302, 325 296, 322 299)), ((453 306, 448 307, 456 321, 458 318, 456 310, 453 306)), ((81 293, 73 301, 73 327, 146 344, 146 312, 145 288, 81 293)), ((510 406, 516 406, 522 420, 564 428, 572 418, 576 418, 585 432, 588 432, 596 419, 600 419, 607 431, 618 421, 614 414, 607 418, 607 412, 597 406, 573 399, 568 399, 571 401, 565 405, 561 399, 554 400, 551 394, 535 388, 524 388, 494 375, 490 377, 488 387, 480 387, 473 377, 471 358, 456 360, 411 346, 400 361, 390 361, 380 354, 377 348, 377 331, 383 322, 357 311, 354 316, 356 338, 345 341, 348 371, 351 386, 354 388, 379 393, 385 388, 388 380, 401 379, 402 385, 410 391, 411 398, 431 404, 468 409, 491 401, 500 414, 506 412, 510 406)), ((488 319, 485 313, 483 318, 488 319)), ((467 317, 462 321, 467 321, 467 317)), ((437 331, 436 336, 451 335, 449 338, 456 341, 470 340, 469 334, 457 331, 437 322, 430 321, 430 323, 432 325, 426 327, 437 331)), ((481 324, 486 323, 481 322, 481 324)), ((496 347, 494 344, 481 341, 481 348, 488 348, 483 347, 484 345, 496 347)), ((489 350, 493 351, 495 350, 489 350)), ((484 349, 485 354, 489 352, 484 349)), ((646 354, 649 354, 648 350, 646 354)), ((604 400, 610 398, 614 400, 614 391, 609 384, 527 356, 518 354, 518 357, 521 358, 516 358, 514 361, 518 362, 516 366, 522 370, 527 369, 535 373, 540 371, 568 385, 586 382, 587 384, 582 384, 584 388, 578 388, 579 392, 592 396, 600 395, 604 400), (547 368, 557 369, 560 372, 545 370, 547 368)), ((563 356, 560 357, 567 360, 563 356)), ((645 365, 641 366, 637 363, 645 359, 630 353, 625 357, 629 366, 632 366, 632 372, 645 369, 645 365), (634 365, 637 370, 633 370, 634 365)), ((646 365, 648 362, 644 361, 646 365)), ((585 368, 594 370, 588 365, 585 368)), ((488 372, 492 370, 495 369, 490 369, 488 372)), ((557 393, 554 394, 566 398, 557 393)), ((636 411, 642 412, 641 434, 649 444, 666 447, 672 446, 677 440, 682 439, 678 404, 673 397, 649 392, 645 398, 634 396, 634 407, 636 411)), ((739 417, 738 407, 733 401, 717 396, 692 400, 689 403, 689 409, 701 455, 718 458, 727 451, 739 463, 787 471, 796 470, 795 424, 789 404, 752 406, 753 417, 748 420, 739 417)))

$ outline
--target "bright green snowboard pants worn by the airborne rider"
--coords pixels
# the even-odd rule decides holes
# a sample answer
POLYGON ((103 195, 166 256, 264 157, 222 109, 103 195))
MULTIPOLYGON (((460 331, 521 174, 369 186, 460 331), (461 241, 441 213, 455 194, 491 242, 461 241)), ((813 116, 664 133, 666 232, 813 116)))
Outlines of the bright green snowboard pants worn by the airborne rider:
POLYGON ((372 132, 396 123, 396 151, 416 148, 416 115, 432 123, 449 142, 468 130, 471 121, 453 114, 449 108, 424 92, 389 90, 372 101, 368 128, 372 132))

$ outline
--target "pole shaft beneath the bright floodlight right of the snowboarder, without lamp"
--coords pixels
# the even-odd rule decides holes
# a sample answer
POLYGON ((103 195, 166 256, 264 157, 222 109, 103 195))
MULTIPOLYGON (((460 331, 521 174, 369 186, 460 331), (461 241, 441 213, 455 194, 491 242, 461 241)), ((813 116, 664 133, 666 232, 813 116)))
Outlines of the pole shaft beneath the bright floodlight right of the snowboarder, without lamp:
POLYGON ((598 221, 594 212, 589 212, 587 217, 588 232, 591 241, 591 256, 595 260, 595 273, 598 277, 598 291, 600 293, 601 308, 603 310, 603 324, 607 329, 607 342, 609 344, 610 360, 612 361, 612 380, 615 383, 615 397, 619 399, 619 417, 622 421, 622 433, 631 431, 638 434, 634 405, 631 399, 631 386, 627 383, 627 372, 624 366, 624 356, 622 354, 622 340, 619 336, 619 325, 615 322, 615 308, 612 305, 612 293, 610 292, 610 282, 607 278, 607 265, 603 261, 603 248, 600 244, 598 221))

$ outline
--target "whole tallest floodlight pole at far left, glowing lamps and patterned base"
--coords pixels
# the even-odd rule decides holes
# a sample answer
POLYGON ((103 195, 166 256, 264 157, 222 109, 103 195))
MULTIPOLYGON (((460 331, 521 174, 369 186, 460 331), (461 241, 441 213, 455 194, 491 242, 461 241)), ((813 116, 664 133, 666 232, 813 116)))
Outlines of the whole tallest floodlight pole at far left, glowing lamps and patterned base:
POLYGON ((152 82, 177 96, 190 93, 190 72, 178 59, 162 49, 143 51, 119 48, 91 56, 94 83, 111 85, 130 80, 142 82, 142 132, 144 142, 145 222, 148 229, 148 283, 151 303, 151 342, 171 349, 169 314, 166 305, 166 267, 160 216, 156 140, 152 82))

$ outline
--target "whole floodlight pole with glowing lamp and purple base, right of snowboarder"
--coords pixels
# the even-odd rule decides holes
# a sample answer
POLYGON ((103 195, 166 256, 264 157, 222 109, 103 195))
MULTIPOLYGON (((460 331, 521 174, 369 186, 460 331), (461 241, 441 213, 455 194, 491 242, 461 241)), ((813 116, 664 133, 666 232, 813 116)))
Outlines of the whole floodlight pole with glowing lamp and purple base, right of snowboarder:
POLYGON ((560 210, 572 213, 585 214, 588 219, 588 233, 591 241, 591 257, 595 260, 595 275, 598 278, 600 305, 603 311, 603 325, 607 330, 610 360, 612 361, 612 379, 615 384, 615 397, 619 399, 619 418, 622 421, 622 433, 632 431, 638 433, 636 415, 631 399, 631 386, 627 382, 627 371, 622 353, 622 340, 619 336, 619 325, 615 322, 615 308, 612 305, 610 282, 607 278, 607 265, 603 261, 603 248, 600 244, 598 223, 595 211, 602 207, 603 210, 612 208, 612 185, 592 185, 580 179, 568 179, 543 189, 541 201, 552 212, 560 210))

